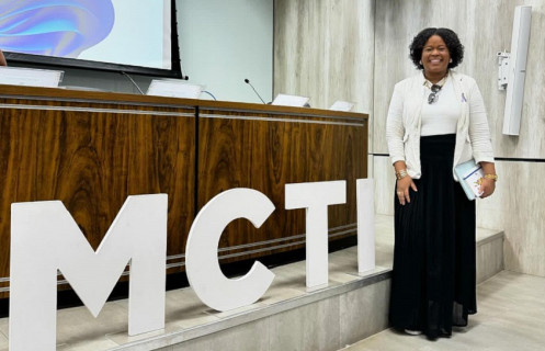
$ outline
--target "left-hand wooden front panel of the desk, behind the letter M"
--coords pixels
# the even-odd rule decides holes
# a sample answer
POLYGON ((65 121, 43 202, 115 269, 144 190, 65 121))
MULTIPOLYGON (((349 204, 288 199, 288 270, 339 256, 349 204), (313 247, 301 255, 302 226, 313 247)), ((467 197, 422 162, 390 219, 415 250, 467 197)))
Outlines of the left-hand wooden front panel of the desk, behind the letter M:
POLYGON ((194 216, 194 136, 192 109, 0 99, 0 276, 14 202, 63 201, 96 249, 128 195, 168 193, 168 253, 181 253, 194 216))

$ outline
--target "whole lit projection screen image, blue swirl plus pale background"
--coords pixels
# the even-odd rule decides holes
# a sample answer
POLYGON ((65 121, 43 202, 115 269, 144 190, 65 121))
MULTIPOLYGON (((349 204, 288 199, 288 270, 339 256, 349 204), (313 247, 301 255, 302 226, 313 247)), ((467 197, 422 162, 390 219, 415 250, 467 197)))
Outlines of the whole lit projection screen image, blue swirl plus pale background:
POLYGON ((0 0, 4 52, 171 69, 170 0, 0 0))

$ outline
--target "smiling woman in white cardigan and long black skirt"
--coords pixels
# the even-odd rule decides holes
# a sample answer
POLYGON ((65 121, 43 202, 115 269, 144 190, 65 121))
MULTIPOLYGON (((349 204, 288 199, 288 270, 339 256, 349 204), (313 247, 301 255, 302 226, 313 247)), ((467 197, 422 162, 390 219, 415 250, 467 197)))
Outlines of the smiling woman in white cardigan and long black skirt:
POLYGON ((396 84, 386 123, 397 178, 390 324, 430 339, 467 326, 477 312, 475 202, 453 169, 472 158, 480 163, 480 197, 498 178, 477 83, 452 70, 463 57, 453 31, 421 31, 410 58, 422 72, 396 84))

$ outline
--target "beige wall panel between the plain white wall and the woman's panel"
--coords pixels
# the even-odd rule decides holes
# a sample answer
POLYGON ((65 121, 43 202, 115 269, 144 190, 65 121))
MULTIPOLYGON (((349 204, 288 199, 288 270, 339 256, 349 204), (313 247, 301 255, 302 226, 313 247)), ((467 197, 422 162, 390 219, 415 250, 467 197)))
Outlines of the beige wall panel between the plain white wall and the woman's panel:
POLYGON ((374 1, 275 0, 274 95, 373 109, 374 1))

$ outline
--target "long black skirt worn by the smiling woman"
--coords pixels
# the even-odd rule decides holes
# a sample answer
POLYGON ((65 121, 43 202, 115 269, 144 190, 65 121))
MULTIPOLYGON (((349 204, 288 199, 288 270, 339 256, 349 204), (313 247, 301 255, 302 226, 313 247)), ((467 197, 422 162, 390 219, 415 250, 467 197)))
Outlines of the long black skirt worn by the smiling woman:
POLYGON ((455 135, 420 138, 422 177, 410 204, 395 194, 395 248, 389 319, 429 338, 451 336, 477 313, 475 202, 454 181, 455 135))

